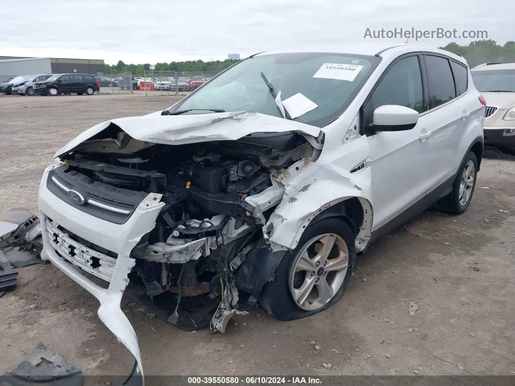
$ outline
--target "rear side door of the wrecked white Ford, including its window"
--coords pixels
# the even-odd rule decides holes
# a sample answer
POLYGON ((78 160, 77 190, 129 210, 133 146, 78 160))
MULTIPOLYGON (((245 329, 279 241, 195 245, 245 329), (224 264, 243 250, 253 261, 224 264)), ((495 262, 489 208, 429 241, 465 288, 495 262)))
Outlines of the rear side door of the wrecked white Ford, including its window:
POLYGON ((429 94, 429 110, 424 115, 427 116, 427 128, 431 133, 425 140, 427 152, 424 157, 434 170, 427 176, 429 193, 444 188, 442 185, 448 186, 452 182, 450 179, 454 178, 454 159, 461 135, 465 132, 466 118, 462 119, 462 115, 466 113, 466 108, 463 104, 465 98, 459 97, 465 90, 463 86, 459 90, 456 88, 451 60, 433 53, 424 54, 423 58, 429 94))

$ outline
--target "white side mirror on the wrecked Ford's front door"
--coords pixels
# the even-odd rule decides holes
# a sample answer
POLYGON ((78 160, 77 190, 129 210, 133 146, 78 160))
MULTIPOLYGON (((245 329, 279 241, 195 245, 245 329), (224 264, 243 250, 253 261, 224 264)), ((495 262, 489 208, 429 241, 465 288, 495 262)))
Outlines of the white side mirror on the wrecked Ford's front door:
POLYGON ((418 122, 419 113, 409 107, 384 105, 374 110, 373 124, 376 131, 403 131, 413 129, 418 122))

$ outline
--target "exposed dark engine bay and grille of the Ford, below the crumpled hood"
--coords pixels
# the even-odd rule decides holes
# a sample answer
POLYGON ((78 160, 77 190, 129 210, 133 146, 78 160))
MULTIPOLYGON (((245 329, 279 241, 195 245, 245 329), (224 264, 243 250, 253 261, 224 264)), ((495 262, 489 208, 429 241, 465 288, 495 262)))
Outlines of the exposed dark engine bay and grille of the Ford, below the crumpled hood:
POLYGON ((127 292, 179 328, 224 332, 230 317, 242 313, 238 289, 250 292, 248 303, 258 300, 253 289, 264 283, 254 285, 255 267, 242 266, 266 248, 263 226, 282 194, 259 208, 252 198, 279 191, 278 177, 289 166, 316 158, 314 138, 307 137, 253 133, 237 141, 162 145, 133 139, 113 124, 62 155, 47 187, 56 195, 64 189, 75 201, 73 188, 82 203, 86 197, 87 205, 75 202, 78 209, 117 224, 149 193, 161 195, 155 228, 132 250, 127 292))

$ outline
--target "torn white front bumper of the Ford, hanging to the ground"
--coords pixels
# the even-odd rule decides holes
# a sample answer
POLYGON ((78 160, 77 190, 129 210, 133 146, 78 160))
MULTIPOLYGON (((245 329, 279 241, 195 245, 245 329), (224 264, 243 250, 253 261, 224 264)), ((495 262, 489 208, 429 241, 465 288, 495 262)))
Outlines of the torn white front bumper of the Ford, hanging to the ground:
POLYGON ((131 250, 144 234, 155 227, 157 216, 164 205, 164 203, 160 203, 161 195, 149 194, 126 223, 113 224, 97 219, 77 209, 71 203, 63 202, 50 192, 46 188, 46 180, 48 171, 53 167, 50 166, 45 170, 39 189, 38 204, 43 239, 41 257, 52 261, 67 276, 98 299, 100 302, 98 317, 136 359, 130 383, 127 383, 128 380, 124 384, 144 385, 138 338, 120 304, 129 282, 127 275, 135 264, 135 260, 129 257, 131 250), (50 234, 52 229, 55 229, 46 226, 50 220, 54 226, 59 225, 62 234, 50 234), (70 232, 70 235, 67 232, 70 232), (72 249, 71 255, 66 255, 66 249, 57 248, 58 245, 68 245, 65 243, 69 239, 63 238, 63 234, 70 238, 73 238, 71 235, 74 234, 116 254, 114 261, 111 261, 114 262, 114 266, 109 269, 109 288, 101 288, 85 277, 80 270, 73 267, 72 264, 82 268, 82 265, 88 262, 88 256, 92 255, 91 248, 90 250, 85 249, 80 256, 74 253, 74 249, 72 249), (80 259, 72 259, 72 255, 79 256, 80 259))

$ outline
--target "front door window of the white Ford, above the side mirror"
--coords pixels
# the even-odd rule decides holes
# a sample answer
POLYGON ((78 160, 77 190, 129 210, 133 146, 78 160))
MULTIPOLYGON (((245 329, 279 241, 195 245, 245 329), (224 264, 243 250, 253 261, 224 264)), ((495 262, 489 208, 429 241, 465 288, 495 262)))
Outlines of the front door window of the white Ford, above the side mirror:
POLYGON ((424 94, 422 91, 422 75, 418 56, 409 56, 395 63, 364 107, 365 130, 373 122, 373 112, 384 105, 399 105, 424 111, 424 94))

